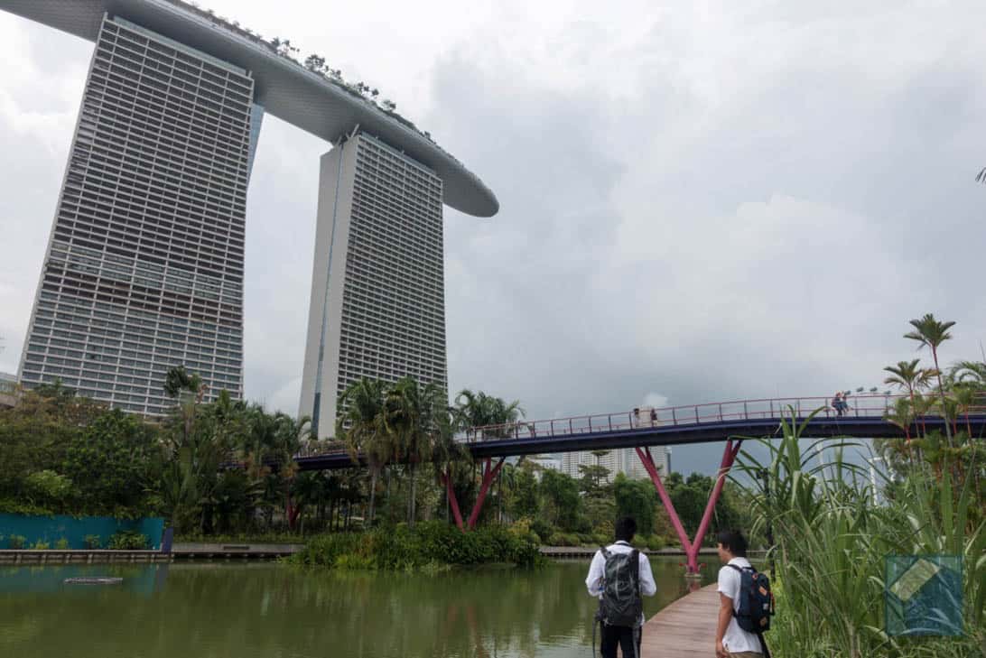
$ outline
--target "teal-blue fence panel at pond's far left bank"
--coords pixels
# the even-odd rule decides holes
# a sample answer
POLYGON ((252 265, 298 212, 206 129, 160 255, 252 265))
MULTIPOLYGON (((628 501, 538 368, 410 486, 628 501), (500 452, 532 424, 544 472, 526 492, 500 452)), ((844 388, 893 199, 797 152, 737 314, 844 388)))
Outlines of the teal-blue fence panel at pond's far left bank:
POLYGON ((165 530, 163 518, 116 519, 111 516, 25 516, 0 514, 0 550, 11 547, 11 537, 24 537, 24 548, 30 549, 38 542, 54 549, 59 540, 66 540, 70 549, 85 549, 86 537, 97 535, 100 548, 106 548, 109 538, 117 532, 136 531, 151 540, 151 549, 161 548, 161 536, 165 530))

